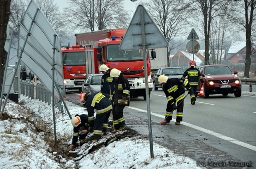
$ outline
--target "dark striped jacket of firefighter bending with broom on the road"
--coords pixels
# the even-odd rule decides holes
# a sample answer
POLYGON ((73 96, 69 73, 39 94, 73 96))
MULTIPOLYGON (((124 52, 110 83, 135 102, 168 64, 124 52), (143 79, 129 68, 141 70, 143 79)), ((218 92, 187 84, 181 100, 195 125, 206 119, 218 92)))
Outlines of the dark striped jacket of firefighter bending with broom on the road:
POLYGON ((170 78, 167 80, 167 83, 163 85, 163 90, 167 97, 167 101, 170 101, 172 105, 185 97, 185 89, 183 85, 189 90, 188 93, 190 96, 194 95, 194 92, 187 80, 170 78))

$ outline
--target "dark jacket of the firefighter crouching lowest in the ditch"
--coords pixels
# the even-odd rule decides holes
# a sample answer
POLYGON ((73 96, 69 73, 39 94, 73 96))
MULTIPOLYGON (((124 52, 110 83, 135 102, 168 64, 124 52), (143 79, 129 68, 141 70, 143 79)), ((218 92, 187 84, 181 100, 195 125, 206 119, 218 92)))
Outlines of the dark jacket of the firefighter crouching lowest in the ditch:
POLYGON ((82 132, 82 130, 87 130, 89 131, 89 121, 88 121, 88 115, 86 114, 81 114, 81 115, 76 115, 79 116, 81 119, 81 124, 78 125, 77 127, 74 127, 73 129, 73 138, 72 138, 72 144, 76 145, 76 142, 78 140, 79 134, 82 132))

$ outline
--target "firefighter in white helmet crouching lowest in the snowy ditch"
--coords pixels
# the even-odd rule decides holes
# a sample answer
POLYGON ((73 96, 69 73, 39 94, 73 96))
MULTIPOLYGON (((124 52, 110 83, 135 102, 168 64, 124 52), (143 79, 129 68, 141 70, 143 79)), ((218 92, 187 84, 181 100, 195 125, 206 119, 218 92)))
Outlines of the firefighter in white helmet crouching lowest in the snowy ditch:
POLYGON ((89 131, 88 115, 86 115, 86 114, 78 115, 77 114, 77 115, 75 115, 75 117, 73 117, 71 119, 71 123, 74 127, 71 149, 74 149, 76 142, 78 140, 78 137, 79 137, 79 141, 80 141, 80 146, 82 146, 85 142, 85 137, 87 136, 88 131, 89 131))

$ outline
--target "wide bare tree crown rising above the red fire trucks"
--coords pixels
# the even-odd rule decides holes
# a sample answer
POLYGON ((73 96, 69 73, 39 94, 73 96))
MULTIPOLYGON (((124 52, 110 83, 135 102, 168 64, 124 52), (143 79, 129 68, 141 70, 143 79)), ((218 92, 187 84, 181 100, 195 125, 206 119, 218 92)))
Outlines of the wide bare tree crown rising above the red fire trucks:
POLYGON ((68 22, 83 32, 96 28, 127 28, 130 15, 122 7, 124 0, 69 0, 65 8, 68 22))

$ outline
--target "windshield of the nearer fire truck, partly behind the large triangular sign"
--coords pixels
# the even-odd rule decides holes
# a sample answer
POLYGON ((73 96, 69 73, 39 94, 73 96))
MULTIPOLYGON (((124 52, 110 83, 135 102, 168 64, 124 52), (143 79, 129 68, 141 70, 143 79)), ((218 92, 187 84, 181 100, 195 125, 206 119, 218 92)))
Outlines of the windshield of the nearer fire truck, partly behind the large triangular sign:
POLYGON ((107 46, 108 62, 132 62, 143 61, 142 50, 120 51, 119 44, 107 46))

